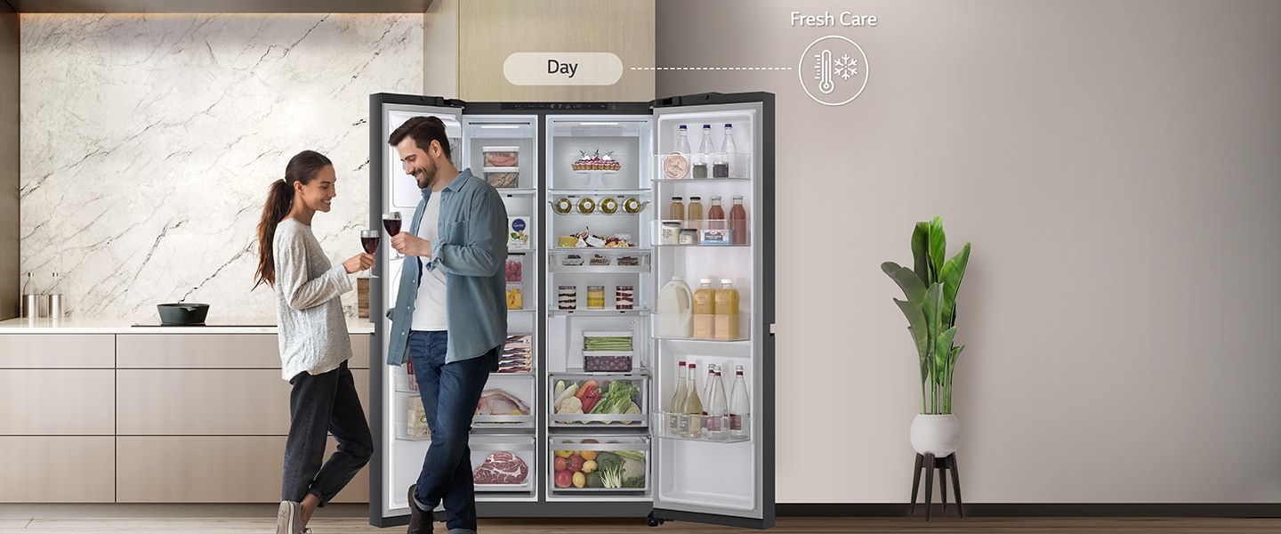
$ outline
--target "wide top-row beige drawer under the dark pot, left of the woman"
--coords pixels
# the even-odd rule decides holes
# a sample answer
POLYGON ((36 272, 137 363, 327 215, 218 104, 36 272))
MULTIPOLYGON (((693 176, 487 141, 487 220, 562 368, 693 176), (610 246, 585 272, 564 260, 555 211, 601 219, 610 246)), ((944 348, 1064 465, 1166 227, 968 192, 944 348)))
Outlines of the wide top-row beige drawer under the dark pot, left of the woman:
POLYGON ((118 366, 281 369, 275 334, 120 334, 118 366))

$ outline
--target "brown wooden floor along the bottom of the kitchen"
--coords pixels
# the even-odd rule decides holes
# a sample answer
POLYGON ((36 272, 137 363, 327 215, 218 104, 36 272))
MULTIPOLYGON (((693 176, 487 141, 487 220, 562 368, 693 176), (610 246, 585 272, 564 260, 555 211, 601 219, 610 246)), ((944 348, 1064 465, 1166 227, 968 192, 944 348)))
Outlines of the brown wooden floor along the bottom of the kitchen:
MULTIPOLYGON (((319 517, 315 534, 404 533, 404 526, 375 529, 364 519, 319 517)), ((437 524, 436 531, 445 533, 437 524)), ((36 533, 274 533, 275 520, 182 517, 31 517, 0 519, 0 534, 36 533)), ((748 530, 667 521, 649 528, 643 520, 480 520, 482 534, 711 534, 748 530)), ((1145 517, 780 517, 771 533, 1281 533, 1281 519, 1145 517)))

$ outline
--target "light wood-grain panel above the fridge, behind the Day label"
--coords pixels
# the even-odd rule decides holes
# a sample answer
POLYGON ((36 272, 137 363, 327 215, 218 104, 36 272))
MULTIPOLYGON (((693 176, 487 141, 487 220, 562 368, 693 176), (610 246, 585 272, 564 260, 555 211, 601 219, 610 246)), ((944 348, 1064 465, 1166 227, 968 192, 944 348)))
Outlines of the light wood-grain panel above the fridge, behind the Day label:
POLYGON ((469 0, 461 4, 459 37, 462 100, 648 101, 655 96, 653 70, 632 70, 653 67, 653 0, 469 0), (516 86, 503 76, 503 61, 512 53, 547 51, 612 53, 623 60, 623 77, 611 86, 516 86))

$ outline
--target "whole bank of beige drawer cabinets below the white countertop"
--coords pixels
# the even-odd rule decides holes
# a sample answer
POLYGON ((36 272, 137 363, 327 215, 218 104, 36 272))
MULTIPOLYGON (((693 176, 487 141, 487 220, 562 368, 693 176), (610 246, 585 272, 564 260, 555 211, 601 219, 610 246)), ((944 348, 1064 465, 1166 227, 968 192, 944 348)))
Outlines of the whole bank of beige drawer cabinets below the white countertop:
MULTIPOLYGON (((366 419, 369 339, 351 336, 348 361, 366 419)), ((277 343, 0 334, 0 502, 278 502, 291 385, 277 343)), ((368 501, 368 470, 334 499, 368 501)))

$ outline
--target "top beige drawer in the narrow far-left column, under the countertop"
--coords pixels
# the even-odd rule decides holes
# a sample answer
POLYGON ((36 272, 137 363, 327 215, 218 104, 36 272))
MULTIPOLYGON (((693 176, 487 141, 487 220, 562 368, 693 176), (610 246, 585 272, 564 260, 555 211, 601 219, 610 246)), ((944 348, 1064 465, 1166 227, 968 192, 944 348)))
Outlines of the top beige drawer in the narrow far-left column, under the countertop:
POLYGON ((111 369, 113 334, 0 334, 0 369, 111 369))

